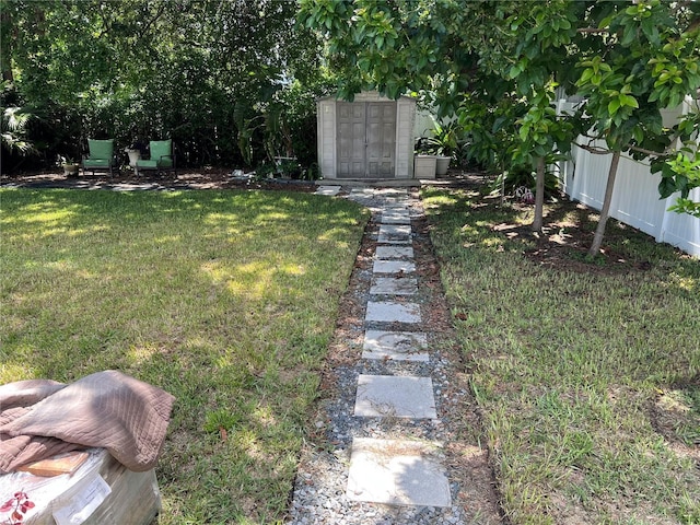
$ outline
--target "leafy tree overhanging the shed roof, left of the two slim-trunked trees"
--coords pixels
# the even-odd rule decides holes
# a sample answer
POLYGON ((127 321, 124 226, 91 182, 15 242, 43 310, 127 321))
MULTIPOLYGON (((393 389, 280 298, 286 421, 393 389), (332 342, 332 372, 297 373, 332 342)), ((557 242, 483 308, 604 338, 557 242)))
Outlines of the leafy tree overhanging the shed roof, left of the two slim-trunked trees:
POLYGON ((342 71, 341 96, 351 98, 364 88, 377 88, 389 97, 407 91, 432 92, 440 115, 462 115, 462 125, 477 138, 472 142, 477 158, 503 168, 537 166, 533 225, 541 229, 545 158, 556 143, 564 149, 573 129, 557 118, 551 106, 553 78, 565 68, 565 46, 575 35, 573 21, 583 8, 564 1, 523 9, 521 2, 450 0, 303 0, 301 5, 300 20, 326 37, 331 63, 342 71), (510 92, 516 94, 515 105, 525 108, 525 115, 515 112, 522 120, 513 149, 495 139, 513 130, 504 124, 514 112, 501 104, 510 92), (490 127, 472 114, 474 102, 482 105, 487 100, 492 106, 481 116, 492 120, 490 127), (510 150, 511 159, 500 153, 504 150, 510 150))

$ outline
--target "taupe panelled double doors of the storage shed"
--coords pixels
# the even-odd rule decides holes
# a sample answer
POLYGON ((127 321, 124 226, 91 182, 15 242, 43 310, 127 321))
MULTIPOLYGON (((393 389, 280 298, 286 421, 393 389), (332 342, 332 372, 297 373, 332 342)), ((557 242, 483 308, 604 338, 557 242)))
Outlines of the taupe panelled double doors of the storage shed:
POLYGON ((396 163, 396 104, 339 102, 337 176, 390 178, 396 163))

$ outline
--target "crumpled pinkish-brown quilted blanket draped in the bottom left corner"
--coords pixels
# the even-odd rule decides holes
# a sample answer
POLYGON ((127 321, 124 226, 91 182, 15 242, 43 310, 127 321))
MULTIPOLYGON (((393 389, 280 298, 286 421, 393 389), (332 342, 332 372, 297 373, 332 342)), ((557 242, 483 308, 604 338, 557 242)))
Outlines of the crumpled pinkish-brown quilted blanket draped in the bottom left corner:
POLYGON ((65 385, 0 386, 0 474, 77 448, 106 448, 127 468, 153 468, 175 398, 114 370, 65 385))

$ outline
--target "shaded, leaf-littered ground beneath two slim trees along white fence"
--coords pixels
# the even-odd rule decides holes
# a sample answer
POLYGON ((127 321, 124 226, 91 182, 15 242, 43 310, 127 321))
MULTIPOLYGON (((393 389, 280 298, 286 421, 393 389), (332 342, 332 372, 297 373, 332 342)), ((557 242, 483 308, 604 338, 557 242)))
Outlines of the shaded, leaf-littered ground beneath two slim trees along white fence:
MULTIPOLYGON (((492 253, 521 252, 536 265, 587 275, 614 276, 655 270, 681 293, 700 291, 698 260, 615 219, 608 221, 602 254, 587 255, 598 213, 567 198, 545 205, 541 233, 532 231, 534 208, 485 196, 479 187, 445 192, 427 188, 424 198, 442 223, 459 229, 464 247, 492 253), (454 218, 454 222, 453 219, 454 218)), ((445 226, 447 228, 447 226, 445 226)))

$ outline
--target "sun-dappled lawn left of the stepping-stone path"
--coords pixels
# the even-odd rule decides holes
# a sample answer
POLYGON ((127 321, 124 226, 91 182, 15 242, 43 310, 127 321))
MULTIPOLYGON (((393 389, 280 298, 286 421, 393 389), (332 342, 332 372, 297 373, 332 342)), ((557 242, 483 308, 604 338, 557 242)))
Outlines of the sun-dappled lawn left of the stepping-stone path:
POLYGON ((0 190, 0 383, 172 393, 162 525, 273 523, 369 215, 262 191, 0 190))

